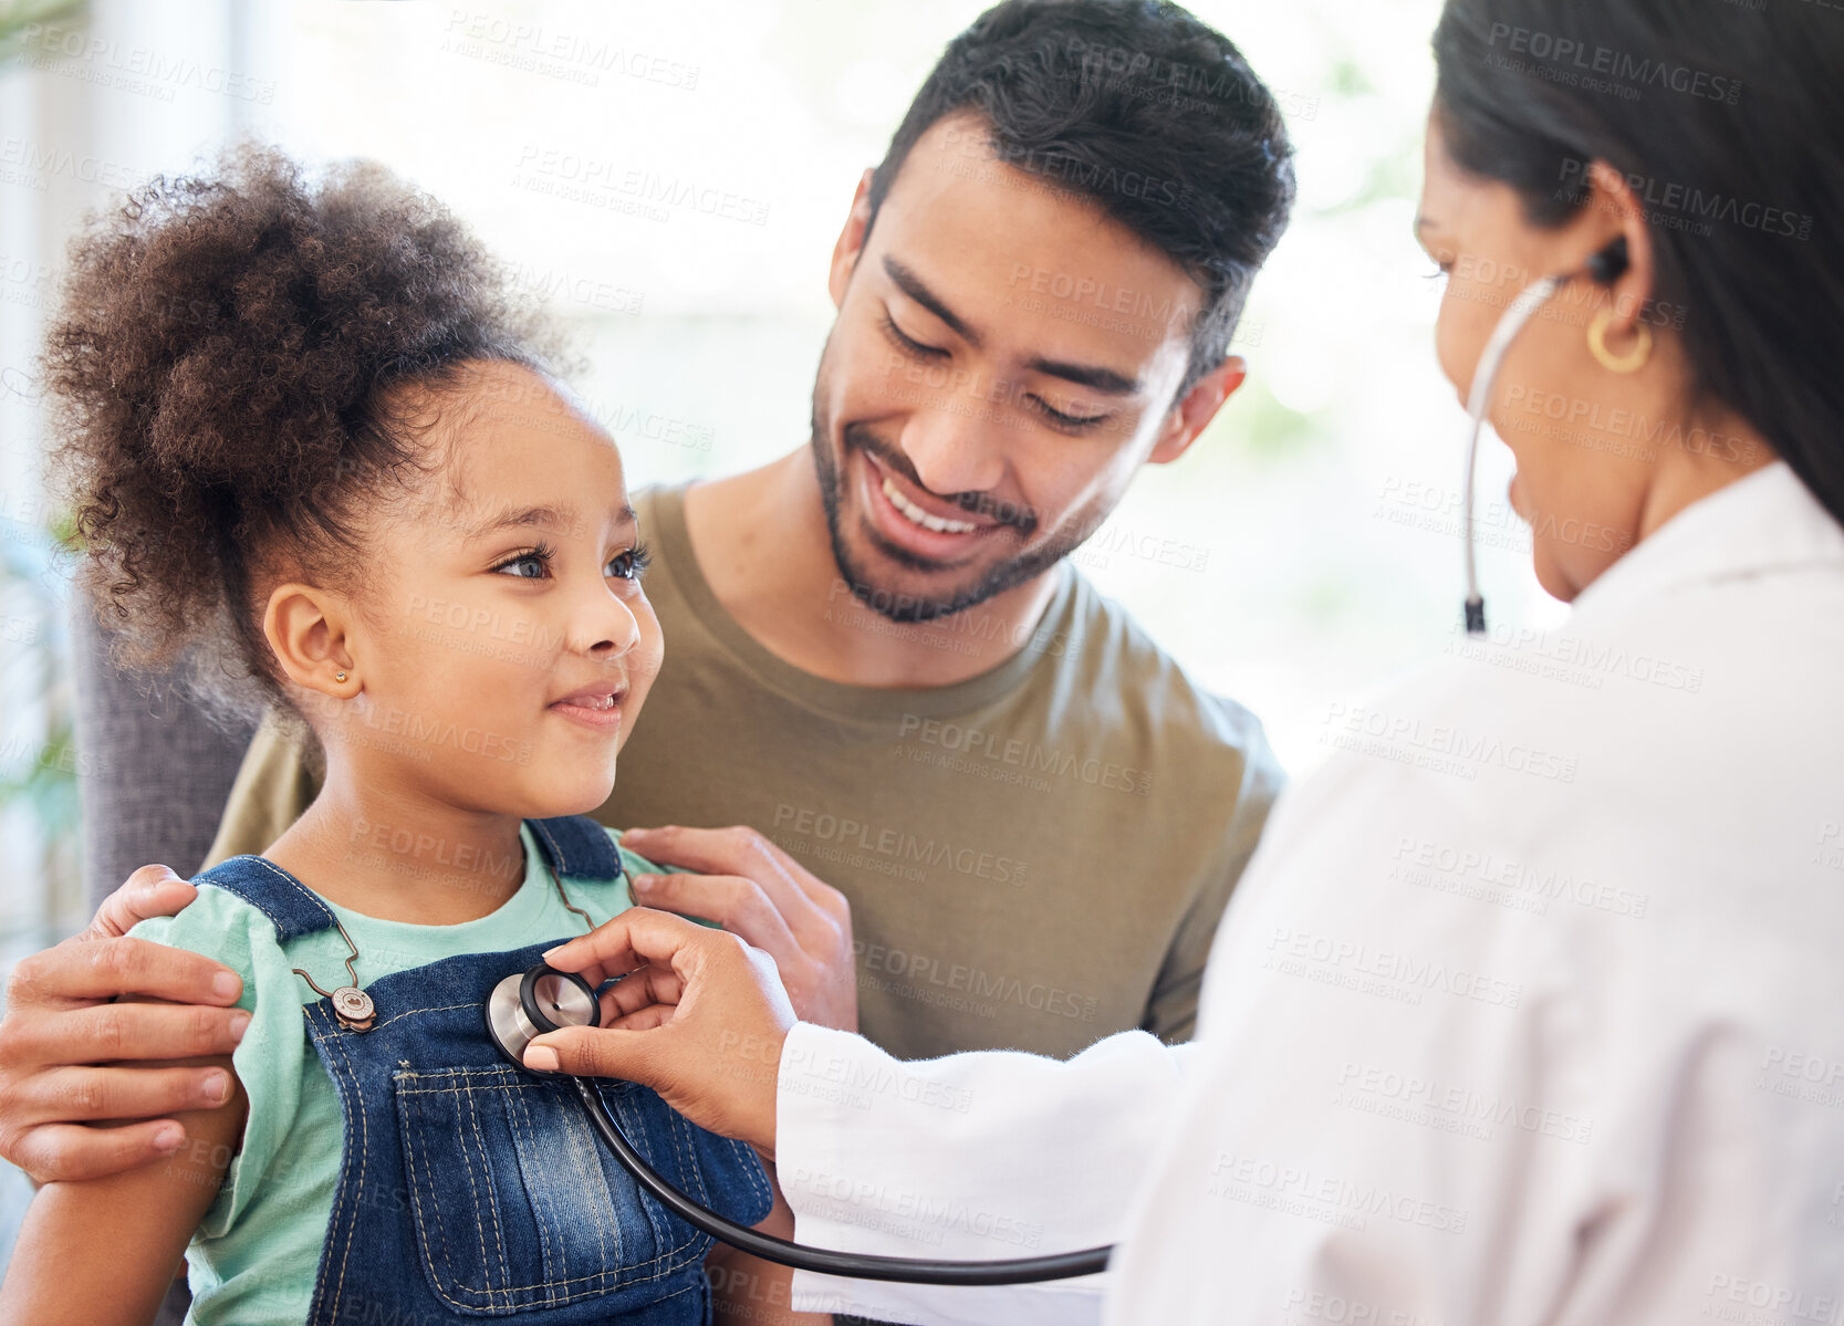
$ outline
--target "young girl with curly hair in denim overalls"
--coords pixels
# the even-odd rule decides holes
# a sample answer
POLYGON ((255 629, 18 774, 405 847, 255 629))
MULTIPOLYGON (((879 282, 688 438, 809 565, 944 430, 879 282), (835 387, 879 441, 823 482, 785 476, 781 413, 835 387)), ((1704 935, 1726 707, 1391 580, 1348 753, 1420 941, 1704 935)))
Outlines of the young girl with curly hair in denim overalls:
MULTIPOLYGON (((136 928, 242 974, 227 1099, 170 1162, 42 1190, 6 1320, 144 1324, 183 1250, 190 1320, 238 1326, 787 1302, 487 1036, 489 990, 655 869, 575 819, 662 645, 621 457, 540 350, 455 219, 372 166, 315 184, 242 149, 76 243, 48 371, 87 585, 131 660, 192 647, 218 692, 299 714, 326 784, 136 928)), ((677 1186, 791 1230, 747 1147, 601 1090, 677 1186)))

